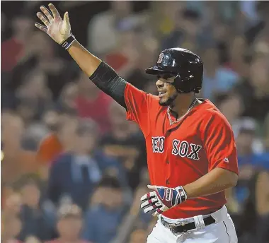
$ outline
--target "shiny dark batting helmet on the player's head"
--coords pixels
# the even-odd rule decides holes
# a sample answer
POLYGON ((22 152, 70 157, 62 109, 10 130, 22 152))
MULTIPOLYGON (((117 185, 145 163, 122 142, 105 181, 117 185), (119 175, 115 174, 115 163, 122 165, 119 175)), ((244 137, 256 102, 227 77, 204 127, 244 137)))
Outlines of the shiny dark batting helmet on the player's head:
POLYGON ((173 85, 180 93, 200 93, 202 88, 202 60, 188 49, 165 49, 159 54, 156 66, 147 69, 146 73, 174 74, 176 78, 173 85))

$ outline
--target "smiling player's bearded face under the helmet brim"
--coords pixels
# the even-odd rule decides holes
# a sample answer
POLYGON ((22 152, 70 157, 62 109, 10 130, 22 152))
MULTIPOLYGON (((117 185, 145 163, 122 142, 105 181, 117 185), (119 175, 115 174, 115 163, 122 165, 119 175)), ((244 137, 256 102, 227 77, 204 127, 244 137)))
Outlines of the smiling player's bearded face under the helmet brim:
POLYGON ((163 106, 171 105, 178 96, 178 92, 173 86, 176 77, 171 74, 163 74, 157 77, 156 86, 159 92, 159 104, 163 106))

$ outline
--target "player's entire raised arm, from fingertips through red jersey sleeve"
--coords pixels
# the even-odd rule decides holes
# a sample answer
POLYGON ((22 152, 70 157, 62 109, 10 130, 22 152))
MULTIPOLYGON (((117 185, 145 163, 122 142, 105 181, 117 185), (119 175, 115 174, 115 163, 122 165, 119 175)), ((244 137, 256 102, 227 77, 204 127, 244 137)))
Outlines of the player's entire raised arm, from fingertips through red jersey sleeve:
POLYGON ((35 26, 67 49, 91 81, 103 92, 113 97, 122 107, 125 107, 127 119, 135 121, 142 129, 144 136, 147 136, 150 129, 149 107, 151 107, 152 95, 144 93, 127 83, 108 64, 82 47, 71 35, 68 13, 64 13, 62 19, 53 4, 49 4, 49 8, 52 13, 44 6, 40 8, 42 13, 37 13, 38 18, 45 26, 39 23, 35 23, 35 26))

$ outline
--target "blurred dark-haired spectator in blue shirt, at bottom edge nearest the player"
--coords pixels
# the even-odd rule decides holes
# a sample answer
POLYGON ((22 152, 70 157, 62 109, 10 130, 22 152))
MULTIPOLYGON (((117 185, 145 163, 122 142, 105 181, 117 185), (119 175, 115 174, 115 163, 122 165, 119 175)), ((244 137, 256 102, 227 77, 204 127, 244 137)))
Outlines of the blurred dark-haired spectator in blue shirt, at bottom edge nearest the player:
POLYGON ((127 209, 122 195, 122 188, 117 179, 103 177, 86 213, 84 239, 95 243, 113 240, 127 209))

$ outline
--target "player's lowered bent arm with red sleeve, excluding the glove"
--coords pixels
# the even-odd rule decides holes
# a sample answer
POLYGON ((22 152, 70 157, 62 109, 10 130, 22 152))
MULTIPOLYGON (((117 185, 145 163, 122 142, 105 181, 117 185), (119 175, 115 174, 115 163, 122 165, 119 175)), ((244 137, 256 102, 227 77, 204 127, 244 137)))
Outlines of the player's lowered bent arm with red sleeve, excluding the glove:
POLYGON ((236 186, 238 180, 234 134, 228 121, 219 114, 214 114, 205 128, 202 128, 201 134, 209 172, 197 181, 183 186, 188 198, 216 194, 236 186))

